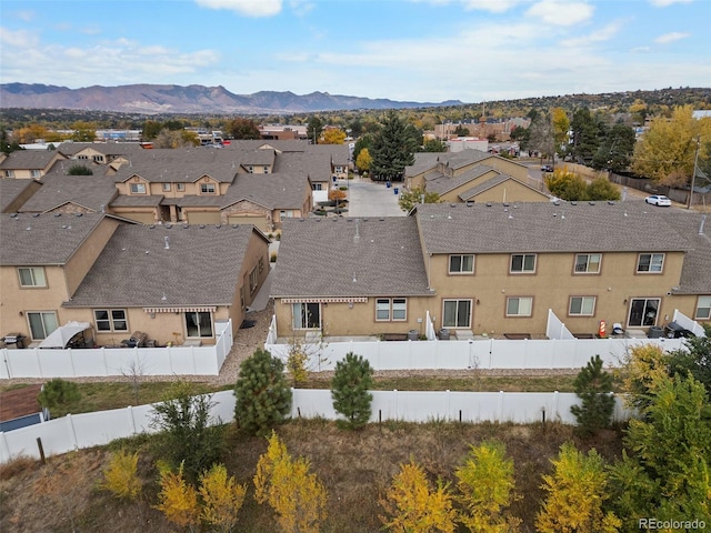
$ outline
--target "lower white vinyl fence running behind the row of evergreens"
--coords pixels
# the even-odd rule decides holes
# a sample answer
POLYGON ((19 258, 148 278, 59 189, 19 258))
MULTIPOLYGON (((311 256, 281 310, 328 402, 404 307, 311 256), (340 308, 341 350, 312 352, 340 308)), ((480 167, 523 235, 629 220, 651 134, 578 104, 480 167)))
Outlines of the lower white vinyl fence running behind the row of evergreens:
MULTIPOLYGON (((559 421, 574 423, 570 406, 579 403, 573 393, 559 392, 453 392, 453 391, 372 391, 371 422, 452 421, 532 423, 559 421)), ((233 421, 236 398, 232 391, 212 395, 212 423, 233 421)), ((68 414, 61 419, 0 433, 0 463, 19 456, 39 459, 38 440, 44 454, 58 455, 91 447, 139 433, 152 433, 152 405, 68 414)), ((615 420, 630 416, 617 398, 615 420)), ((331 391, 292 390, 291 418, 336 420, 331 391)))

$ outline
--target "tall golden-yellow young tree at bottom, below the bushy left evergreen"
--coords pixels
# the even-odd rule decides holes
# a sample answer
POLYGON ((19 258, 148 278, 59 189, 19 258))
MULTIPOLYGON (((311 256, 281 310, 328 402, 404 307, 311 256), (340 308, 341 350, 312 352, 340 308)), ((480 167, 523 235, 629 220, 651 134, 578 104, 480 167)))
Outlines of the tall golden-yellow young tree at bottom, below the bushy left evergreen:
POLYGON ((317 533, 326 520, 328 494, 309 470, 309 461, 292 459, 272 431, 267 452, 257 463, 254 497, 274 510, 284 533, 317 533))

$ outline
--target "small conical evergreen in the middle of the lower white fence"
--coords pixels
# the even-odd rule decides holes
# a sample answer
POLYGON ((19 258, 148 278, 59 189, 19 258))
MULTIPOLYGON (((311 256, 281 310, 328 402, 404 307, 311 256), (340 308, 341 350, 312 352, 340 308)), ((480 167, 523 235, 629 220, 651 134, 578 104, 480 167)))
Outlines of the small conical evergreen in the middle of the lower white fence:
POLYGON ((368 392, 373 386, 373 369, 367 359, 353 352, 336 363, 331 381, 333 409, 346 416, 339 425, 356 430, 363 428, 370 420, 373 395, 368 392))

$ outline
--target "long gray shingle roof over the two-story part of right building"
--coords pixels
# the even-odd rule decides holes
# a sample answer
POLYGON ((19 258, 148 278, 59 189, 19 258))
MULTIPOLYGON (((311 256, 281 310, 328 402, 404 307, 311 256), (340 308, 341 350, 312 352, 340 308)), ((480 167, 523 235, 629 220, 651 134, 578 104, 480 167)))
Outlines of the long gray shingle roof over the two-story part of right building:
POLYGON ((427 252, 683 251, 663 210, 642 202, 423 204, 427 252))

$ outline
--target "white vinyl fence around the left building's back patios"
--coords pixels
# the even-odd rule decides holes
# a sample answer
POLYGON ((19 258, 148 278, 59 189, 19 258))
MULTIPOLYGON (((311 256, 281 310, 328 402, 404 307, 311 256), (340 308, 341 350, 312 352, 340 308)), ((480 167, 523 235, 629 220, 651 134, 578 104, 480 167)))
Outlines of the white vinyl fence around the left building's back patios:
POLYGON ((0 379, 218 375, 232 348, 232 321, 216 321, 207 346, 1 350, 0 379))

